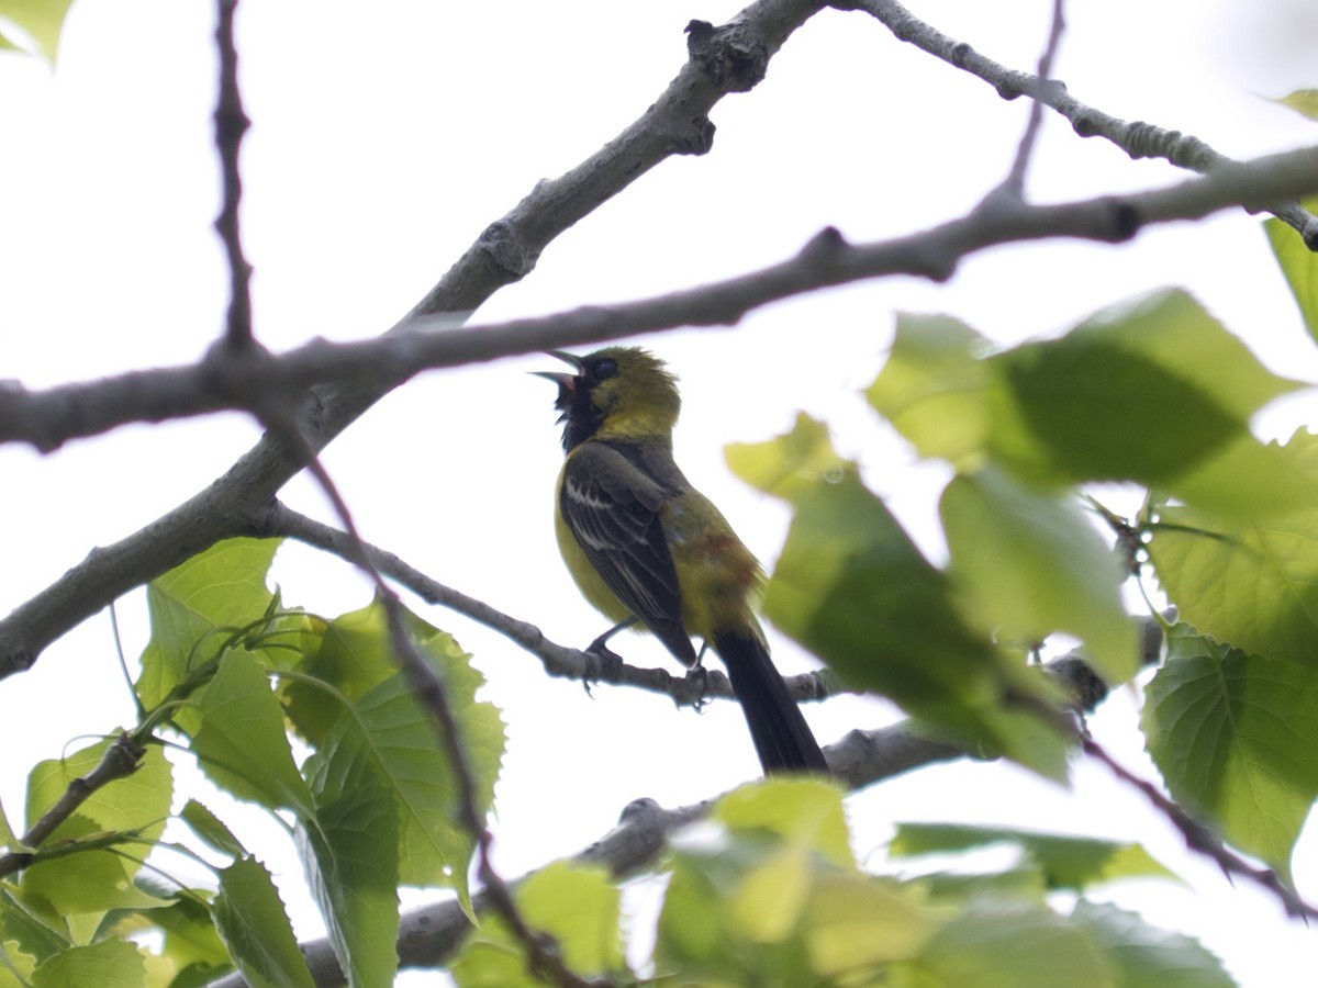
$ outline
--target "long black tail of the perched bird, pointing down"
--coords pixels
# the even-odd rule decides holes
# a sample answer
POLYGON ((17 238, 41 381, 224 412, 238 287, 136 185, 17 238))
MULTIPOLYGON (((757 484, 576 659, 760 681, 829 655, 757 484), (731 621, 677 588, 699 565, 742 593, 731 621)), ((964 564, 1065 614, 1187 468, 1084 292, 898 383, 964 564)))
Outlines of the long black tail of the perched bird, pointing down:
POLYGON ((741 701, 751 740, 764 775, 828 772, 824 752, 787 693, 787 684, 768 657, 768 647, 754 630, 714 636, 714 651, 728 667, 728 678, 741 701))

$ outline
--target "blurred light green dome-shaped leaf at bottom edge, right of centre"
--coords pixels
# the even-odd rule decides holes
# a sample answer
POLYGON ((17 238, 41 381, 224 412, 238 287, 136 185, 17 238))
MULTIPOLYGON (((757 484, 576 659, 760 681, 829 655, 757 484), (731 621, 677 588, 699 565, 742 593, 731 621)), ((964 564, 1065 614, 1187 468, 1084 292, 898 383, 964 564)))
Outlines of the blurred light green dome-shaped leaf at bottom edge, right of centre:
POLYGON ((1012 902, 963 910, 911 967, 927 980, 904 984, 1112 988, 1108 964, 1089 937, 1048 909, 1012 902))

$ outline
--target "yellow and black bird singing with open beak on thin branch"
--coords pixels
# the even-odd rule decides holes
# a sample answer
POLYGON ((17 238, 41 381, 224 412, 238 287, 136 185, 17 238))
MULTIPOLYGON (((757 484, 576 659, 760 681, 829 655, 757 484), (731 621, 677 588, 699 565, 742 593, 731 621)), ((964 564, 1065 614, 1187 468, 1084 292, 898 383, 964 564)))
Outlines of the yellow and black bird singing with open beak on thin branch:
POLYGON ((753 610, 763 570, 673 460, 677 378, 639 346, 548 354, 572 368, 535 371, 559 386, 559 551, 585 599, 614 622, 590 648, 608 652, 614 632, 637 627, 692 671, 712 647, 728 668, 764 773, 826 773, 753 610), (693 638, 704 643, 700 652, 693 638))

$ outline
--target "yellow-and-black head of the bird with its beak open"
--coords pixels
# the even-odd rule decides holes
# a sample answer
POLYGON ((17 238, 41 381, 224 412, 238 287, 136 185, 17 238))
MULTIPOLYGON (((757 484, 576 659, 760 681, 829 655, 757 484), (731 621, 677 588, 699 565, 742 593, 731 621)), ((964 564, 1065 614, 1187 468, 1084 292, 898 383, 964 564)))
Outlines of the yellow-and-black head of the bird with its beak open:
POLYGON ((588 439, 659 437, 667 441, 681 410, 677 378, 639 346, 605 346, 585 357, 552 350, 576 374, 546 374, 559 386, 563 448, 588 439))

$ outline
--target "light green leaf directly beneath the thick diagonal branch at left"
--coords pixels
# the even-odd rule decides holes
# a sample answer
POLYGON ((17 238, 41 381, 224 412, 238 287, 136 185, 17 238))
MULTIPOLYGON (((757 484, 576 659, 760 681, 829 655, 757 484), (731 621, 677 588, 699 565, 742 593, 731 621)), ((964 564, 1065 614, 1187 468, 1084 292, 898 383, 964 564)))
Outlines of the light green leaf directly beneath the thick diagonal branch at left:
POLYGON ((137 696, 148 710, 214 659, 235 630, 266 615, 274 595, 265 576, 278 547, 277 539, 221 541, 146 588, 152 638, 137 696))

